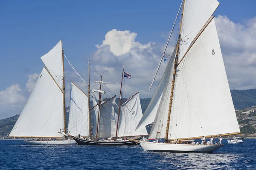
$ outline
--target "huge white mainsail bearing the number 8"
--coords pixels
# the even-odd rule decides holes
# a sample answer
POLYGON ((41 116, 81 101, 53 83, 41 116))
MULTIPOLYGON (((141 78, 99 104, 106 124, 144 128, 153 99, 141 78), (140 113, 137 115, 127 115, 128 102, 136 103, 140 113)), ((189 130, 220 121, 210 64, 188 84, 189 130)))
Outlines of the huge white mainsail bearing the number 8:
POLYGON ((169 139, 239 132, 213 19, 177 67, 169 139))

